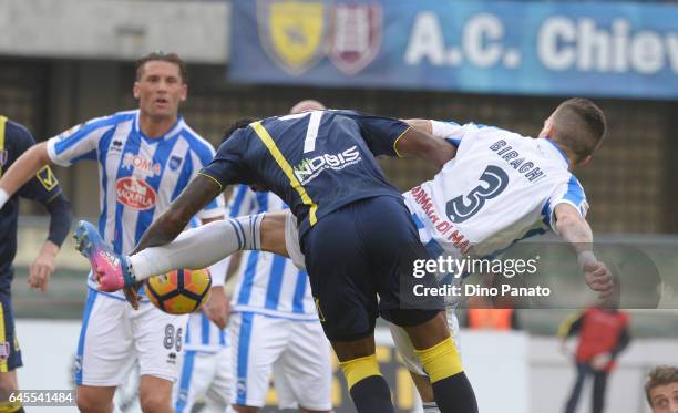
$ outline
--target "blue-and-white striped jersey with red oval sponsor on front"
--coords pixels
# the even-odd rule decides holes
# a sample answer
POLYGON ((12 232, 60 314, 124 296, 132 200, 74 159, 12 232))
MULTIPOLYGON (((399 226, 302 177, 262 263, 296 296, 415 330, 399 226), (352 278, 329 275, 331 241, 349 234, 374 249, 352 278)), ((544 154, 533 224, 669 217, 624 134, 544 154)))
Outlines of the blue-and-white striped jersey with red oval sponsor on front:
MULTIPOLYGON (((136 110, 95 118, 48 141, 48 154, 56 165, 99 163, 99 231, 120 254, 133 250, 215 153, 182 117, 165 135, 152 138, 141 131, 138 115, 136 110)), ((197 216, 223 217, 222 197, 197 216)), ((94 281, 89 286, 95 288, 94 281)), ((120 291, 114 295, 122 297, 120 291)))

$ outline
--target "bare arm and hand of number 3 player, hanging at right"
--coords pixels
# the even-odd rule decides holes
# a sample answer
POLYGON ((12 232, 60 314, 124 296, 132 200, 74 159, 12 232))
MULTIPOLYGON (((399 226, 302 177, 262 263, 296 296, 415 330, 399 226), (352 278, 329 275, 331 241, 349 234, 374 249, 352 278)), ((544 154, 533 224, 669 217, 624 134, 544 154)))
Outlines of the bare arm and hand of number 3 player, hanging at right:
POLYGON ((614 289, 612 272, 593 252, 590 226, 569 204, 558 204, 554 211, 556 230, 577 252, 577 261, 584 271, 586 283, 598 292, 600 299, 609 298, 614 289))

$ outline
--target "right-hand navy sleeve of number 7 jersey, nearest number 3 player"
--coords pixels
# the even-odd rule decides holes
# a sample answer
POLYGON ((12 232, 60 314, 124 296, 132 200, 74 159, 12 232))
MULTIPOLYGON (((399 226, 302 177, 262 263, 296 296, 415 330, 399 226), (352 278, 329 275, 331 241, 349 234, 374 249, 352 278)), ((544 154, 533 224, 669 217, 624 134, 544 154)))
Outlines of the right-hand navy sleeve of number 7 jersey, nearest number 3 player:
POLYGON ((358 123, 362 138, 374 156, 401 157, 397 149, 398 140, 404 135, 410 125, 392 117, 373 116, 353 111, 340 112, 342 116, 350 117, 358 123))

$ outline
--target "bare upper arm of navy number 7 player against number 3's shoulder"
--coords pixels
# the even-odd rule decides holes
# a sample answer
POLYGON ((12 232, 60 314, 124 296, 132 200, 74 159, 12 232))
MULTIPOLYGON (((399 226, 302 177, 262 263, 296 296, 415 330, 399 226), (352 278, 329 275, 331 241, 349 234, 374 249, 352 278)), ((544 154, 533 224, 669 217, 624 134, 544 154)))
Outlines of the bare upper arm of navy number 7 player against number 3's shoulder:
POLYGON ((396 143, 396 149, 402 156, 420 157, 441 168, 456 155, 456 147, 445 140, 430 134, 430 122, 409 120, 412 126, 396 143), (427 126, 428 123, 428 126, 427 126))

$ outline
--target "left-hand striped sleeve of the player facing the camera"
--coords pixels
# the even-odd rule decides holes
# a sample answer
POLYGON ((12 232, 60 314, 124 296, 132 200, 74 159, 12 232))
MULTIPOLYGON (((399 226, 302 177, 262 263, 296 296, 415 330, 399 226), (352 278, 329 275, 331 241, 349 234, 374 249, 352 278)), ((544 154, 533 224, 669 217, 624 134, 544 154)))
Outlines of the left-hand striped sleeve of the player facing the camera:
POLYGON ((114 127, 111 117, 92 120, 48 140, 48 155, 60 166, 71 166, 81 159, 96 159, 102 136, 114 127))

